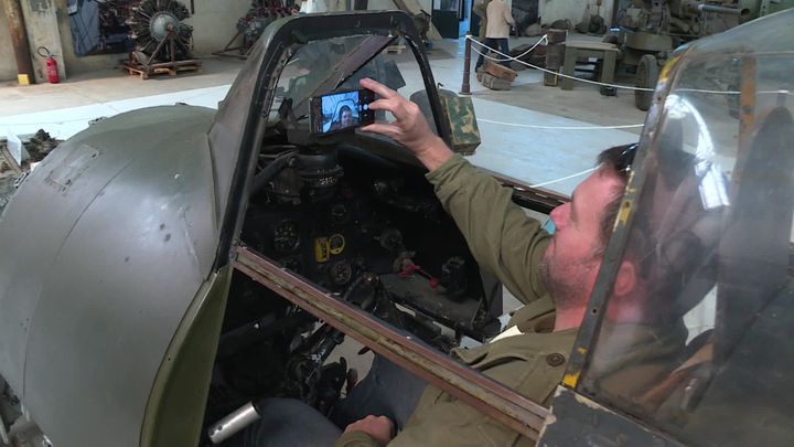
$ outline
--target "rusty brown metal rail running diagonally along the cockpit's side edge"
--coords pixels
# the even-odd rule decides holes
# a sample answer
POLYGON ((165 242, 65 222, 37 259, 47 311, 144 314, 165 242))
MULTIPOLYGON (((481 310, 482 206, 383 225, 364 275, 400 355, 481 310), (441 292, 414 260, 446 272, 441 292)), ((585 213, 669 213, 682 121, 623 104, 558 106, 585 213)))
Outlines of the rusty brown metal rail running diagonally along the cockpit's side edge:
POLYGON ((235 268, 257 283, 489 417, 537 439, 548 413, 543 406, 333 298, 247 247, 237 247, 236 253, 235 268))

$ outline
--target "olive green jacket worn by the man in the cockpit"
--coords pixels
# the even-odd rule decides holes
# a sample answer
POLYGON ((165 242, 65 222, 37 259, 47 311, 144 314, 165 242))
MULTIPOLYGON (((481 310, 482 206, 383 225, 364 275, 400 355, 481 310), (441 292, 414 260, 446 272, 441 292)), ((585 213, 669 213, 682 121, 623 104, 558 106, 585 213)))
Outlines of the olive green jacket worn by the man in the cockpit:
MULTIPOLYGON (((562 377, 576 329, 552 332, 554 305, 537 266, 549 235, 513 203, 509 190, 454 156, 427 175, 482 268, 495 273, 527 304, 511 324, 522 333, 457 349, 453 355, 530 400, 547 405, 562 377)), ((342 435, 336 446, 376 446, 363 432, 342 435)), ((404 429, 389 446, 514 446, 534 443, 450 394, 428 386, 404 429)))

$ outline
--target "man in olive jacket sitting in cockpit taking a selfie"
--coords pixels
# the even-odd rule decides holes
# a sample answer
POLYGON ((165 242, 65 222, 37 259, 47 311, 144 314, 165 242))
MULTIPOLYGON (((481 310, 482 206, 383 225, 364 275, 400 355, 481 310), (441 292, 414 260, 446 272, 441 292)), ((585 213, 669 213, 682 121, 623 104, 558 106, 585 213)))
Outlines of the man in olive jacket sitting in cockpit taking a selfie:
MULTIPOLYGON (((495 339, 478 348, 455 349, 453 355, 522 395, 548 405, 562 379, 596 284, 620 209, 634 146, 614 147, 601 152, 596 172, 577 187, 569 203, 551 212, 556 226, 551 236, 539 222, 528 219, 523 209, 513 203, 509 189, 452 152, 441 138, 432 134, 416 104, 372 79, 362 79, 361 85, 379 96, 369 105, 371 109, 388 110, 395 117, 390 124, 374 124, 362 130, 390 137, 414 152, 428 169, 427 179, 465 236, 479 265, 493 272, 526 305, 512 316, 507 329, 495 339)), ((619 275, 616 294, 634 292, 637 281, 632 273, 635 270, 626 266, 623 272, 619 275)), ((372 375, 371 372, 353 390, 353 394, 366 391, 367 387, 362 385, 372 375)), ((365 398, 354 400, 364 404, 364 413, 336 418, 337 424, 355 421, 346 424, 336 445, 534 444, 450 394, 418 382, 420 386, 393 383, 384 377, 371 381, 374 387, 378 387, 379 383, 380 389, 398 390, 403 406, 409 408, 405 418, 395 417, 401 426, 397 436, 394 436, 390 418, 376 415, 387 412, 367 405, 377 398, 365 395, 365 398), (418 392, 410 393, 409 389, 418 392)), ((283 414, 283 409, 275 407, 273 413, 283 414)), ((315 433, 323 432, 324 437, 329 433, 337 433, 333 424, 320 419, 310 424, 303 414, 301 418, 303 433, 291 430, 290 436, 309 437, 310 430, 305 427, 310 425, 315 433), (323 424, 328 424, 328 429, 320 430, 323 424)), ((288 422, 268 422, 265 415, 262 423, 246 434, 247 439, 255 440, 246 445, 268 445, 265 439, 272 439, 275 430, 285 430, 285 424, 288 422)), ((301 444, 297 438, 292 439, 293 445, 301 444)))

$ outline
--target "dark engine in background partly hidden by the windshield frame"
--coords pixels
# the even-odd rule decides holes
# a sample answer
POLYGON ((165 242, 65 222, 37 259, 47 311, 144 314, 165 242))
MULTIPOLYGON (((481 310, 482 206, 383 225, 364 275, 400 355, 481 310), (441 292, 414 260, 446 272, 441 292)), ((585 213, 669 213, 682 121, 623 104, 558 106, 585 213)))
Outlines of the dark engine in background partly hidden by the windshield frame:
POLYGON ((267 25, 276 19, 294 15, 297 13, 298 8, 290 0, 287 0, 285 3, 278 0, 255 0, 245 17, 242 17, 237 21, 237 32, 234 38, 229 40, 223 50, 216 51, 213 54, 246 60, 248 58, 248 51, 254 46, 254 43, 259 39, 267 25))

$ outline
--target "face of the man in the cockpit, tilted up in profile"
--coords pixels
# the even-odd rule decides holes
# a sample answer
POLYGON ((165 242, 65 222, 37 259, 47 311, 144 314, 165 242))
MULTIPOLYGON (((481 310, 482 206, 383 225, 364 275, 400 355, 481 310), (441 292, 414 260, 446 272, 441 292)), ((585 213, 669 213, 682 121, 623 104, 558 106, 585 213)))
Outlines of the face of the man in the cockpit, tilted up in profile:
POLYGON ((557 231, 540 274, 558 309, 587 305, 603 256, 603 213, 622 185, 614 173, 598 170, 577 187, 571 202, 551 211, 557 231))

